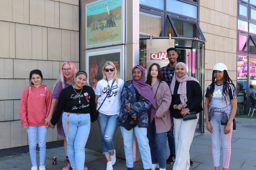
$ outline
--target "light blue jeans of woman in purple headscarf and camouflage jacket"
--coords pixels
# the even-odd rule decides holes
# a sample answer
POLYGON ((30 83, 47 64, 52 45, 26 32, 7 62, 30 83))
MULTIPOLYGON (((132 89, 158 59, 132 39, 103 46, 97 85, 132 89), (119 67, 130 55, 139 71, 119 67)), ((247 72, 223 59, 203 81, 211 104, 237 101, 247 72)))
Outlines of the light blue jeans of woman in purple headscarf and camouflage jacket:
POLYGON ((147 138, 147 128, 139 128, 138 126, 136 126, 131 130, 126 130, 126 128, 120 126, 120 129, 124 139, 124 153, 125 153, 127 168, 133 167, 133 147, 132 146, 133 146, 133 132, 134 132, 136 139, 138 141, 143 168, 151 169, 152 161, 151 161, 150 147, 149 147, 148 138, 147 138))

